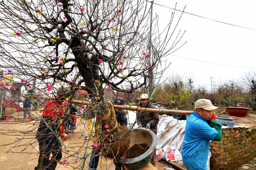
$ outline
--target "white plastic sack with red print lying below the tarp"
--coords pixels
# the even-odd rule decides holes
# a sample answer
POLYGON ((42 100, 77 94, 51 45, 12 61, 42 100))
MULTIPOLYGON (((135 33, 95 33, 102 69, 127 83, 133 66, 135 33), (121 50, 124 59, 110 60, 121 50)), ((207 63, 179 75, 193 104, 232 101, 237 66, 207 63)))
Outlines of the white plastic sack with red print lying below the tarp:
POLYGON ((179 150, 177 150, 175 147, 170 147, 166 145, 163 150, 165 151, 165 158, 166 160, 179 162, 182 161, 182 155, 179 150))

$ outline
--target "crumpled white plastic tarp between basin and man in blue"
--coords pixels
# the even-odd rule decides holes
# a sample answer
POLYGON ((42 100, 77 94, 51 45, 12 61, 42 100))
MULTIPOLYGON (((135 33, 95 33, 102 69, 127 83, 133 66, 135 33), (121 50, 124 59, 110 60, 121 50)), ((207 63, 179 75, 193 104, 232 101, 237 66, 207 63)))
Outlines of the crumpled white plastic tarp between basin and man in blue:
POLYGON ((181 151, 185 133, 186 120, 177 120, 172 116, 162 115, 157 126, 157 148, 168 145, 181 151))

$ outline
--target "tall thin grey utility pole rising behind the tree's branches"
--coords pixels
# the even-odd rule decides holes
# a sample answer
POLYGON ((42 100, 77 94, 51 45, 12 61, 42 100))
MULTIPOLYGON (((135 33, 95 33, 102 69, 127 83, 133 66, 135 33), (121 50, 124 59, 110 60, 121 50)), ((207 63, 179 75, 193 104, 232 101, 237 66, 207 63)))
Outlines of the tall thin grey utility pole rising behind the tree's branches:
POLYGON ((150 31, 149 31, 149 58, 148 58, 148 96, 151 95, 151 90, 153 87, 152 80, 153 80, 153 72, 150 69, 151 63, 151 37, 152 37, 152 16, 153 16, 153 2, 151 1, 151 12, 150 12, 150 31))

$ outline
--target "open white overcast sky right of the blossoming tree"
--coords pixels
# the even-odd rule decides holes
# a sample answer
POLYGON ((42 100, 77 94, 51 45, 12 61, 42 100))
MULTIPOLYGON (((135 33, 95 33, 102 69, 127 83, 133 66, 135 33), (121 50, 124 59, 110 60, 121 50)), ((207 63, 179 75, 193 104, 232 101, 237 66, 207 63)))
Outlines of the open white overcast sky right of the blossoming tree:
MULTIPOLYGON (((178 26, 178 30, 186 30, 183 40, 187 43, 173 53, 175 56, 168 57, 172 64, 165 72, 165 76, 179 73, 181 76, 192 77, 196 84, 206 84, 210 88, 211 77, 218 83, 238 79, 249 71, 256 71, 255 0, 155 0, 153 14, 157 13, 161 24, 171 17, 174 10, 170 8, 175 8, 176 2, 176 9, 183 10, 186 6, 185 12, 191 13, 183 13, 178 26)), ((180 14, 181 12, 176 11, 176 18, 180 14)))

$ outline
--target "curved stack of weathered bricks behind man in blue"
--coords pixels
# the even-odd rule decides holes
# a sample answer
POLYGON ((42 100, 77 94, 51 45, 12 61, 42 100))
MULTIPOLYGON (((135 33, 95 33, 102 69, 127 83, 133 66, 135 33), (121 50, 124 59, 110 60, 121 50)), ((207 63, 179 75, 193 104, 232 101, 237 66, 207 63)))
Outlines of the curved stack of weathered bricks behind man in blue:
POLYGON ((256 156, 256 128, 222 128, 222 141, 210 143, 210 169, 232 170, 256 156))

